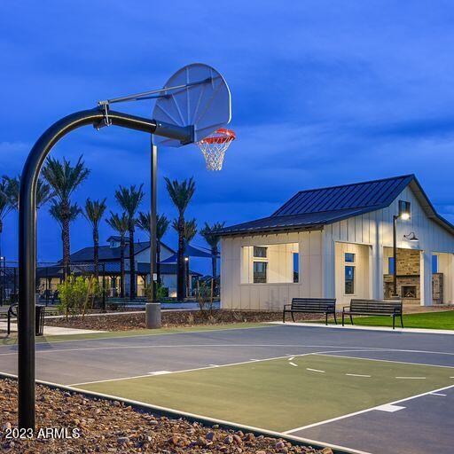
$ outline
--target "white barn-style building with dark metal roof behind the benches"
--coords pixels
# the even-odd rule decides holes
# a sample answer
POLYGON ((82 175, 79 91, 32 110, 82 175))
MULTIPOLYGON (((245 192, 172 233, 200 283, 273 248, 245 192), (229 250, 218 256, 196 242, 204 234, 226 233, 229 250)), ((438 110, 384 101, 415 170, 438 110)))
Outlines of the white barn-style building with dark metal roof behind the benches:
POLYGON ((280 310, 294 297, 454 303, 454 226, 416 176, 301 191, 270 217, 221 233, 221 307, 280 310), (394 216, 410 202, 410 219, 394 216), (412 239, 412 240, 411 240, 412 239), (416 240, 417 239, 417 240, 416 240))

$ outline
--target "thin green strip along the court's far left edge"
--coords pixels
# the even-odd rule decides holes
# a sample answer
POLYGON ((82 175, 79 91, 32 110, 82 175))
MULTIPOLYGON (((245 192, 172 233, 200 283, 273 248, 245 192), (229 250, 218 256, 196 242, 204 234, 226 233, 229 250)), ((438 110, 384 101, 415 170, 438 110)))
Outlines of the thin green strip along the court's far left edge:
MULTIPOLYGON (((113 337, 130 337, 130 336, 150 336, 158 334, 175 334, 175 333, 197 333, 217 330, 234 330, 240 328, 259 328, 262 326, 270 327, 263 323, 235 323, 225 325, 198 325, 185 326, 182 328, 160 328, 155 330, 130 330, 130 331, 109 331, 106 333, 89 333, 89 334, 67 334, 59 336, 40 336, 36 337, 36 342, 66 342, 67 340, 85 340, 85 339, 109 339, 113 337)), ((44 328, 45 330, 45 328, 44 328)), ((17 333, 6 336, 6 333, 0 332, 0 345, 13 345, 17 343, 17 333)))

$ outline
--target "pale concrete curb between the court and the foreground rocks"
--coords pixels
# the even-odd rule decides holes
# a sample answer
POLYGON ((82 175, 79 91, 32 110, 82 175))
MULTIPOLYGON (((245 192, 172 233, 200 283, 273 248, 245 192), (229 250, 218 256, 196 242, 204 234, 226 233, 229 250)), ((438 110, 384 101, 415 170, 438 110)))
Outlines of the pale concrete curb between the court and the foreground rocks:
MULTIPOLYGON (((6 373, 6 372, 0 372, 0 378, 5 378, 5 379, 13 379, 17 380, 17 375, 13 375, 11 373, 6 373)), ((165 407, 160 407, 157 405, 151 405, 149 403, 142 403, 138 401, 133 401, 129 399, 125 399, 122 397, 117 397, 115 395, 106 395, 106 394, 101 394, 101 393, 95 393, 93 391, 87 391, 85 389, 80 389, 78 387, 68 387, 65 385, 59 385, 58 383, 51 383, 50 381, 43 381, 43 380, 35 380, 36 383, 50 387, 51 389, 59 389, 59 390, 64 390, 64 391, 69 391, 72 393, 77 393, 81 395, 85 395, 89 398, 97 398, 97 399, 103 399, 106 401, 118 401, 121 403, 126 403, 127 405, 130 405, 131 407, 141 410, 141 411, 146 411, 146 412, 152 412, 153 414, 157 414, 160 416, 166 416, 168 418, 172 419, 179 419, 179 418, 184 418, 189 420, 190 422, 198 422, 202 426, 206 427, 212 427, 214 424, 217 424, 219 427, 222 427, 223 429, 231 429, 231 430, 241 430, 243 432, 252 432, 254 435, 263 435, 263 436, 270 436, 273 438, 280 438, 283 440, 286 440, 287 442, 292 442, 297 445, 303 445, 303 446, 311 446, 312 448, 315 448, 317 450, 323 450, 324 448, 328 447, 333 450, 333 454, 371 454, 369 452, 363 451, 363 450, 351 450, 342 446, 337 446, 333 444, 320 444, 320 442, 315 441, 315 440, 309 440, 306 438, 301 438, 293 435, 288 435, 288 434, 281 434, 280 432, 274 432, 271 430, 266 430, 262 429, 259 427, 250 427, 250 426, 242 426, 238 424, 234 424, 231 421, 224 421, 223 419, 213 419, 213 418, 207 418, 207 417, 202 417, 200 415, 195 415, 192 413, 188 413, 185 411, 176 411, 173 409, 168 409, 165 407)))

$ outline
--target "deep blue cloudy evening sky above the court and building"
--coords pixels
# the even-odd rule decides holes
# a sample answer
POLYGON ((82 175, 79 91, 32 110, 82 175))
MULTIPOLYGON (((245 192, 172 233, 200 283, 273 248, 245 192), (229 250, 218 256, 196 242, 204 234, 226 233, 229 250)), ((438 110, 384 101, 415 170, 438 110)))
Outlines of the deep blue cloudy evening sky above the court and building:
MULTIPOLYGON (((453 20, 448 1, 4 0, 0 174, 18 174, 35 139, 60 117, 159 88, 200 61, 229 82, 238 139, 222 173, 207 172, 193 145, 160 149, 160 212, 176 216, 163 176, 194 176, 187 216, 202 225, 270 215, 302 189, 415 173, 454 222, 453 20)), ((148 115, 152 106, 124 110, 148 115)), ((80 204, 107 197, 116 210, 118 184, 149 188, 143 133, 80 129, 52 153, 83 154, 91 168, 74 196, 80 204)), ((59 227, 46 208, 38 223, 38 259, 53 261, 59 227)), ((72 250, 90 244, 82 217, 72 231, 72 250)), ((103 223, 101 239, 110 233, 103 223)), ((16 236, 12 214, 3 239, 10 259, 16 236)), ((175 244, 173 232, 166 241, 175 244)))

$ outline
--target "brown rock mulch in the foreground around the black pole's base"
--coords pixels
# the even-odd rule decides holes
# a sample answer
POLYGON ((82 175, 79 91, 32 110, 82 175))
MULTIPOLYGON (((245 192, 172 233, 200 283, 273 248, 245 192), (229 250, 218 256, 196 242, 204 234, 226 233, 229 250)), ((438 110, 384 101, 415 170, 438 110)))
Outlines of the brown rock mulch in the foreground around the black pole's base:
MULTIPOLYGON (((78 438, 5 440, 17 414, 17 383, 0 380, 0 451, 4 454, 75 453, 306 453, 333 454, 329 448, 315 450, 282 439, 255 436, 218 426, 203 427, 186 419, 169 419, 137 411, 120 402, 89 399, 38 385, 36 420, 40 427, 78 429, 78 438)), ((71 432, 72 433, 72 432, 71 432)))

